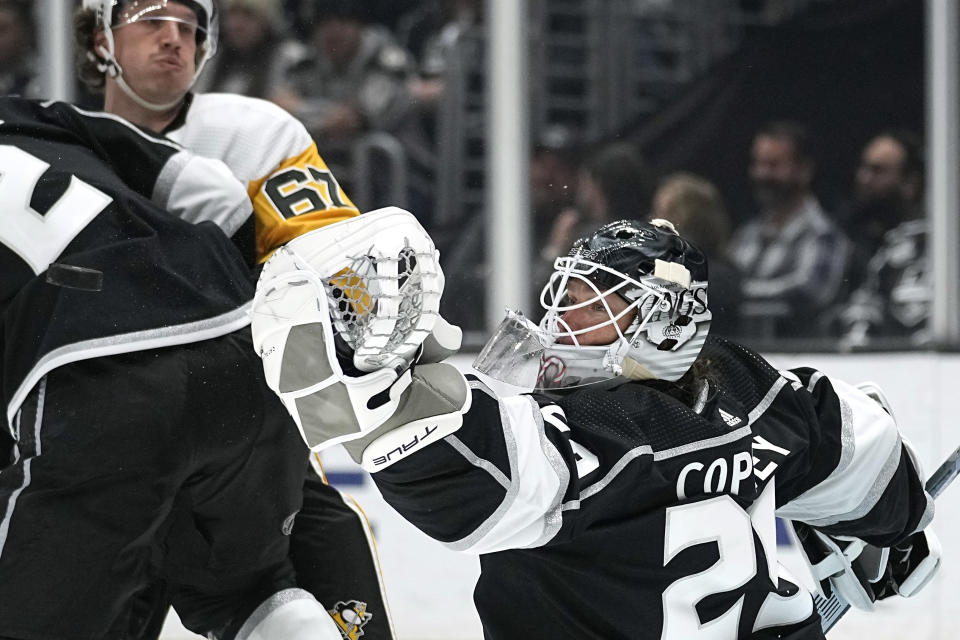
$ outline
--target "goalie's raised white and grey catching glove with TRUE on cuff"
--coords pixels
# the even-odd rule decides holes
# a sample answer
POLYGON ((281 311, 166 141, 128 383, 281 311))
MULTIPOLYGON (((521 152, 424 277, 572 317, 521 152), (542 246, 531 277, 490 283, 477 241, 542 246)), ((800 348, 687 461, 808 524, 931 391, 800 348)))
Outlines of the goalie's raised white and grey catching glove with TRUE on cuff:
POLYGON ((378 470, 384 464, 374 460, 403 457, 387 455, 396 446, 407 455, 459 428, 469 394, 464 399, 455 388, 441 393, 457 397, 446 409, 428 403, 439 410, 428 437, 416 435, 422 425, 414 424, 426 416, 410 411, 412 397, 422 401, 425 388, 444 386, 431 382, 438 370, 429 367, 463 380, 446 364, 410 370, 418 354, 436 360, 459 348, 459 329, 438 313, 442 292, 433 241, 395 207, 304 234, 267 261, 253 304, 254 347, 267 384, 311 449, 363 438, 358 462, 378 470), (375 445, 382 435, 389 437, 375 445))

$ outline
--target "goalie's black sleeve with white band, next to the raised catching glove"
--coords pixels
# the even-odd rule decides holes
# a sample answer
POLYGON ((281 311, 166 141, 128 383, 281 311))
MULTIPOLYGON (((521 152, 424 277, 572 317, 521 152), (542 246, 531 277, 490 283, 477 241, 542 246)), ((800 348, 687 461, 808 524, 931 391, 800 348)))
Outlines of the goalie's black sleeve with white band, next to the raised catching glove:
POLYGON ((451 549, 542 546, 559 531, 577 462, 560 407, 498 398, 477 380, 463 427, 373 474, 387 502, 451 549))

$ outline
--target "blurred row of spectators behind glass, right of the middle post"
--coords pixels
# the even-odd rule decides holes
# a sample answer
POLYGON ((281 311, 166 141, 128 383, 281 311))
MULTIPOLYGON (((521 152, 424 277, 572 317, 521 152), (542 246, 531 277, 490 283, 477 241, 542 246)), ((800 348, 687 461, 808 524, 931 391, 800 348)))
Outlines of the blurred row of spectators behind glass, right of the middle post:
POLYGON ((917 134, 876 132, 851 167, 842 203, 813 190, 817 160, 799 122, 757 127, 744 167, 754 210, 734 226, 722 188, 702 176, 660 176, 630 144, 583 155, 534 154, 536 269, 592 226, 665 218, 707 255, 714 328, 757 344, 831 340, 842 349, 930 343, 924 152, 917 134), (572 189, 568 185, 573 184, 572 189))

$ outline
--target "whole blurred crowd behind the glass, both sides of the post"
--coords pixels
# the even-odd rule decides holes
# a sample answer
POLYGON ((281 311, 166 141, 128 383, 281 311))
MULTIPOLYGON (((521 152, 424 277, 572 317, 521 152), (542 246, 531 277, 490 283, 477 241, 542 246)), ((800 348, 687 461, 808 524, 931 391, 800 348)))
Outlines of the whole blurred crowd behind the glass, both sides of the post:
MULTIPOLYGON (((482 27, 483 0, 220 5, 220 52, 196 90, 281 105, 312 132, 361 207, 402 203, 433 231, 434 176, 447 161, 437 152, 447 69, 463 34, 482 27)), ((37 96, 30 7, 0 0, 4 94, 37 96)), ((722 333, 756 343, 831 339, 848 349, 928 344, 919 135, 890 129, 864 140, 846 199, 826 208, 813 187, 822 141, 802 122, 758 125, 743 159, 754 209, 735 216, 724 185, 689 172, 664 175, 627 139, 584 140, 563 123, 541 127, 530 164, 532 272, 545 281, 555 256, 606 221, 666 218, 710 259, 710 302, 722 333)), ((454 304, 470 306, 476 300, 462 296, 482 291, 485 267, 482 233, 466 231, 481 229, 482 219, 454 223, 457 232, 436 235, 445 255, 469 258, 454 262, 448 282, 454 304)))

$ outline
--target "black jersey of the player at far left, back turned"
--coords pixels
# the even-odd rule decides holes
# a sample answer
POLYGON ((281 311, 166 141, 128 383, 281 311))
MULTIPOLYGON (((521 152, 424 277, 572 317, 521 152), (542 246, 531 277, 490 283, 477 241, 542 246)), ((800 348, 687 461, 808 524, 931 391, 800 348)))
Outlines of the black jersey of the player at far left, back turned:
POLYGON ((216 225, 178 217, 249 211, 222 163, 113 116, 2 98, 0 192, 8 424, 57 366, 249 323, 253 286, 239 252, 216 225))

